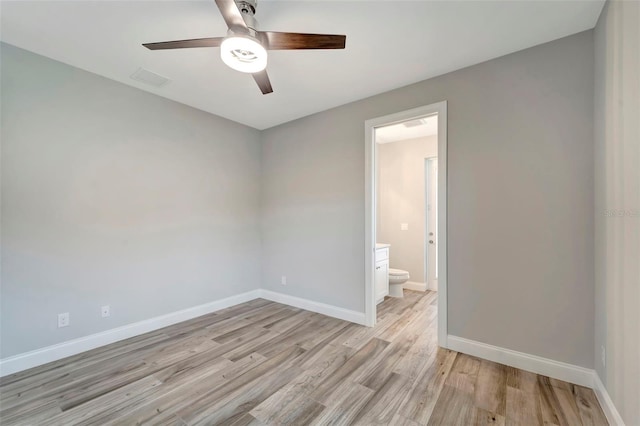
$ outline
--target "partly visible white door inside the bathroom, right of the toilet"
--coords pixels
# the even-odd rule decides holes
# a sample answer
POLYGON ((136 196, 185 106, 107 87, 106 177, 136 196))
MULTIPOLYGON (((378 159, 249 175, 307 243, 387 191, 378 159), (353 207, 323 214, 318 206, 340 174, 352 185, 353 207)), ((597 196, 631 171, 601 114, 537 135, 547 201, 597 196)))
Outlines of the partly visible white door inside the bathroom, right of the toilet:
POLYGON ((438 291, 438 158, 427 159, 427 288, 438 291))

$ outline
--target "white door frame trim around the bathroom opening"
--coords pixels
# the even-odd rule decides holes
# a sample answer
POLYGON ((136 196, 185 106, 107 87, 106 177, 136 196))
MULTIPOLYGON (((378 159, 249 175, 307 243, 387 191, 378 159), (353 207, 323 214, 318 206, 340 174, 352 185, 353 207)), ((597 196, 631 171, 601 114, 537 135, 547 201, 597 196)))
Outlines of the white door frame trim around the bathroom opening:
MULTIPOLYGON (((375 128, 428 115, 438 115, 438 345, 447 348, 447 101, 437 102, 365 121, 365 325, 376 324, 374 291, 376 243, 376 185, 377 168, 375 128)), ((391 248, 393 250, 393 247, 391 248)))

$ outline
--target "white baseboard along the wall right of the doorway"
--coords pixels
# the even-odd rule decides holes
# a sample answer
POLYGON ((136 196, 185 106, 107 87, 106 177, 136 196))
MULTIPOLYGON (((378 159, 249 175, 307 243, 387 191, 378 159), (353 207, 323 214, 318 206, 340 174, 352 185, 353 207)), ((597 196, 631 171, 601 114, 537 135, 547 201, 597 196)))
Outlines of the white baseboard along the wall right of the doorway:
POLYGON ((564 380, 565 382, 574 383, 580 386, 586 386, 589 388, 593 388, 594 386, 594 371, 589 368, 554 361, 552 359, 536 355, 529 355, 524 352, 517 352, 498 346, 487 345, 486 343, 476 342, 474 340, 464 339, 457 336, 447 336, 447 344, 449 349, 456 352, 473 355, 478 358, 516 367, 521 370, 530 371, 532 373, 552 377, 554 379, 564 380))

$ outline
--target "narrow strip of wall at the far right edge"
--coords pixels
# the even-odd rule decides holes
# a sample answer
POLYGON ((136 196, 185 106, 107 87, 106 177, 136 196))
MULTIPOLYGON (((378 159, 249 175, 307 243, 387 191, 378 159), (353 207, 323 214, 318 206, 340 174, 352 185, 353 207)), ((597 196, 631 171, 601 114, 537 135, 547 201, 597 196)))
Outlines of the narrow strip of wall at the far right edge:
POLYGON ((595 52, 595 368, 625 423, 638 425, 639 2, 607 2, 595 29, 595 52))

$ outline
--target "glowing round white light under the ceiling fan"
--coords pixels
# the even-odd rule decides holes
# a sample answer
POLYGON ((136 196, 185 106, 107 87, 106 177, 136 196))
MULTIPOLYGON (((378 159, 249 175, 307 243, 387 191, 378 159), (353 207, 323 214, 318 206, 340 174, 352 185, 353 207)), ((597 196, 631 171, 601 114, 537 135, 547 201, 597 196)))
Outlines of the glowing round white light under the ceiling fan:
POLYGON ((256 73, 267 67, 267 50, 253 37, 232 35, 220 44, 222 61, 236 71, 256 73))

